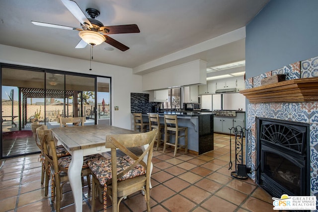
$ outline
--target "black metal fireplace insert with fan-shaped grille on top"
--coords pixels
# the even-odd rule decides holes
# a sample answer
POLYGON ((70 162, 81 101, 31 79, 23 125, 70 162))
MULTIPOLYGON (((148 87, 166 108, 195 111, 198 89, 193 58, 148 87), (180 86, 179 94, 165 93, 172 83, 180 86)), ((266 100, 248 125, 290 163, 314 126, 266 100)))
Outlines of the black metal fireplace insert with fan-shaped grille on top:
POLYGON ((256 183, 272 197, 310 196, 309 124, 256 118, 256 183))

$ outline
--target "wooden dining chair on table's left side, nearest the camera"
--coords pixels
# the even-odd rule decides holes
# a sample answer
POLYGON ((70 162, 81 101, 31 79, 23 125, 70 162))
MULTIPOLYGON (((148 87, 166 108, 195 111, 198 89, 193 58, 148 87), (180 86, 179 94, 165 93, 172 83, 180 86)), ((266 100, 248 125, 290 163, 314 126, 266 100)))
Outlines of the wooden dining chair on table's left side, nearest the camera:
MULTIPOLYGON (((51 176, 51 201, 56 199, 56 211, 59 212, 61 208, 61 199, 63 193, 63 185, 68 181, 68 169, 72 160, 72 156, 58 157, 56 151, 56 143, 54 141, 51 130, 41 129, 36 130, 36 134, 41 141, 41 148, 45 161, 46 172, 51 176), (56 198, 55 198, 56 196, 56 198)), ((93 154, 84 156, 81 176, 87 177, 87 184, 90 188, 89 175, 91 174, 88 168, 88 162, 100 159, 102 155, 93 154)), ((45 184, 48 187, 48 180, 45 184)), ((47 193, 46 193, 47 196, 47 193)))

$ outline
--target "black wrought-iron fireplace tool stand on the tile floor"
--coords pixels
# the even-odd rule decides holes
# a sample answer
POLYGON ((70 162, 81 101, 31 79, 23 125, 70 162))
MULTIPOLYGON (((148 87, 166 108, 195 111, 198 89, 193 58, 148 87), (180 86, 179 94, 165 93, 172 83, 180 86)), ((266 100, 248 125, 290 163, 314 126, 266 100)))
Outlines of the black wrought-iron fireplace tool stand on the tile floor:
POLYGON ((232 132, 235 135, 235 171, 231 172, 231 176, 240 180, 246 180, 247 173, 250 173, 251 169, 243 164, 243 137, 247 132, 245 128, 240 126, 229 128, 230 130, 230 163, 229 170, 232 170, 232 132))

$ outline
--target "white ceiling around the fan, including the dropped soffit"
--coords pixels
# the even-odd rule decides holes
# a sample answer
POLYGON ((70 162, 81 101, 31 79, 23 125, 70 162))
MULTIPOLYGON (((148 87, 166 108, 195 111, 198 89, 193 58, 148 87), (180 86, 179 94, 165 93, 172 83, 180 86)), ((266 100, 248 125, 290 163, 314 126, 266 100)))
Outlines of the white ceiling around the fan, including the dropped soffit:
MULTIPOLYGON (((129 50, 106 51, 112 46, 102 43, 93 48, 93 61, 133 68, 143 74, 171 62, 201 59, 213 66, 244 60, 245 39, 211 49, 207 46, 202 52, 193 48, 191 53, 188 47, 244 27, 269 0, 75 1, 84 13, 89 7, 98 9, 96 19, 105 26, 139 26, 140 33, 109 35, 129 50), (187 52, 183 58, 163 60, 184 49, 187 52)), ((36 26, 31 20, 80 28, 60 0, 0 0, 0 44, 89 60, 88 45, 74 48, 80 41, 77 31, 36 26)))

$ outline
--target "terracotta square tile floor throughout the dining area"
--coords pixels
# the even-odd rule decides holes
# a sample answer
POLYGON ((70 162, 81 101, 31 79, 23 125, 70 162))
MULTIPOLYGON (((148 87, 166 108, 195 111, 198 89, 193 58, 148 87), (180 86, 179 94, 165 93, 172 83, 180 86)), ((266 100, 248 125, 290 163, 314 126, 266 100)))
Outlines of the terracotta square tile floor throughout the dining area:
MULTIPOLYGON (((213 151, 203 155, 185 154, 179 150, 176 157, 173 157, 172 148, 165 153, 162 148, 154 151, 152 212, 273 211, 271 197, 253 181, 231 178, 229 136, 215 134, 214 147, 213 151)), ((0 160, 0 212, 55 212, 50 192, 48 197, 44 196, 40 178, 38 154, 0 160)), ((74 211, 69 184, 63 192, 61 211, 74 211)), ((111 207, 109 202, 108 207, 111 207)), ((102 210, 102 205, 96 201, 95 211, 98 210, 102 210)), ((120 206, 121 212, 145 210, 144 196, 140 193, 132 195, 120 206)), ((83 188, 83 211, 90 211, 87 185, 83 188)))

